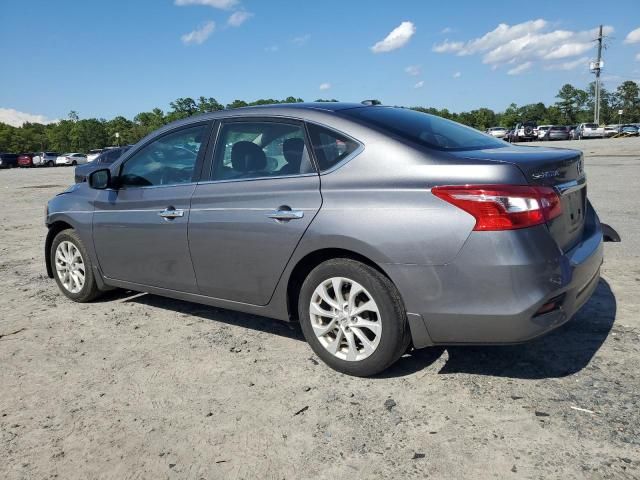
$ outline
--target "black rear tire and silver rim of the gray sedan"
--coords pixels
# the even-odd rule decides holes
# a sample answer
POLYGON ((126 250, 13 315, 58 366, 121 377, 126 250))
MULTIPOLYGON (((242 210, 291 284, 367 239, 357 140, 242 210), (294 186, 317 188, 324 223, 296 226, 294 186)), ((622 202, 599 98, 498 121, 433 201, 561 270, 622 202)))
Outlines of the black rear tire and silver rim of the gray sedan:
POLYGON ((298 315, 311 349, 331 368, 348 375, 366 377, 382 372, 400 358, 411 342, 406 312, 393 283, 374 268, 347 258, 328 260, 309 273, 300 290, 298 315), (333 285, 339 285, 339 297, 333 285), (363 308, 365 304, 373 307, 350 316, 355 310, 346 306, 351 292, 353 307, 363 308), (325 300, 327 297, 331 303, 325 300), (337 298, 342 299, 343 311, 331 307, 337 298), (373 300, 373 304, 368 300, 373 300), (322 327, 326 330, 331 324, 331 330, 316 335, 316 330, 322 327))

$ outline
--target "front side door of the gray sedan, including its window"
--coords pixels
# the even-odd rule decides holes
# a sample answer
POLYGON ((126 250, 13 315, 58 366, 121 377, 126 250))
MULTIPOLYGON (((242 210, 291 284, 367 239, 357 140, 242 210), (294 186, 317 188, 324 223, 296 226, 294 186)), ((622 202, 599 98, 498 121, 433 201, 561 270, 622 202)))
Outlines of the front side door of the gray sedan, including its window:
POLYGON ((187 228, 209 125, 171 131, 118 167, 118 188, 100 191, 93 238, 103 274, 196 292, 187 228))

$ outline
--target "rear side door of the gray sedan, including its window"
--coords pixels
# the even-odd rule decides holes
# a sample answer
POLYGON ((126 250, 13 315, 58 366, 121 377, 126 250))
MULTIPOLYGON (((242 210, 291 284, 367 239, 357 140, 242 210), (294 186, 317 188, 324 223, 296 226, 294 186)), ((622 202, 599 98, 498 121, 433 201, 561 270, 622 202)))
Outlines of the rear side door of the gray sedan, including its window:
POLYGON ((224 120, 211 163, 189 220, 198 288, 211 297, 266 305, 322 203, 304 125, 224 120))

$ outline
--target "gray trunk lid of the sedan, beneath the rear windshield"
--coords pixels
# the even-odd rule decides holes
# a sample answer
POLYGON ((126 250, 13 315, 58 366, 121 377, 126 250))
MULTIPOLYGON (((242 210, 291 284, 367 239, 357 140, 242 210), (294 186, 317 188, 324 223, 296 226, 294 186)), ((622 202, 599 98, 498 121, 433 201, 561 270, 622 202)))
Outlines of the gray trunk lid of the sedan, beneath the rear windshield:
POLYGON ((455 152, 454 155, 517 166, 530 185, 554 187, 560 195, 562 215, 547 223, 551 235, 563 251, 582 238, 587 205, 587 182, 582 152, 543 147, 510 146, 455 152))

